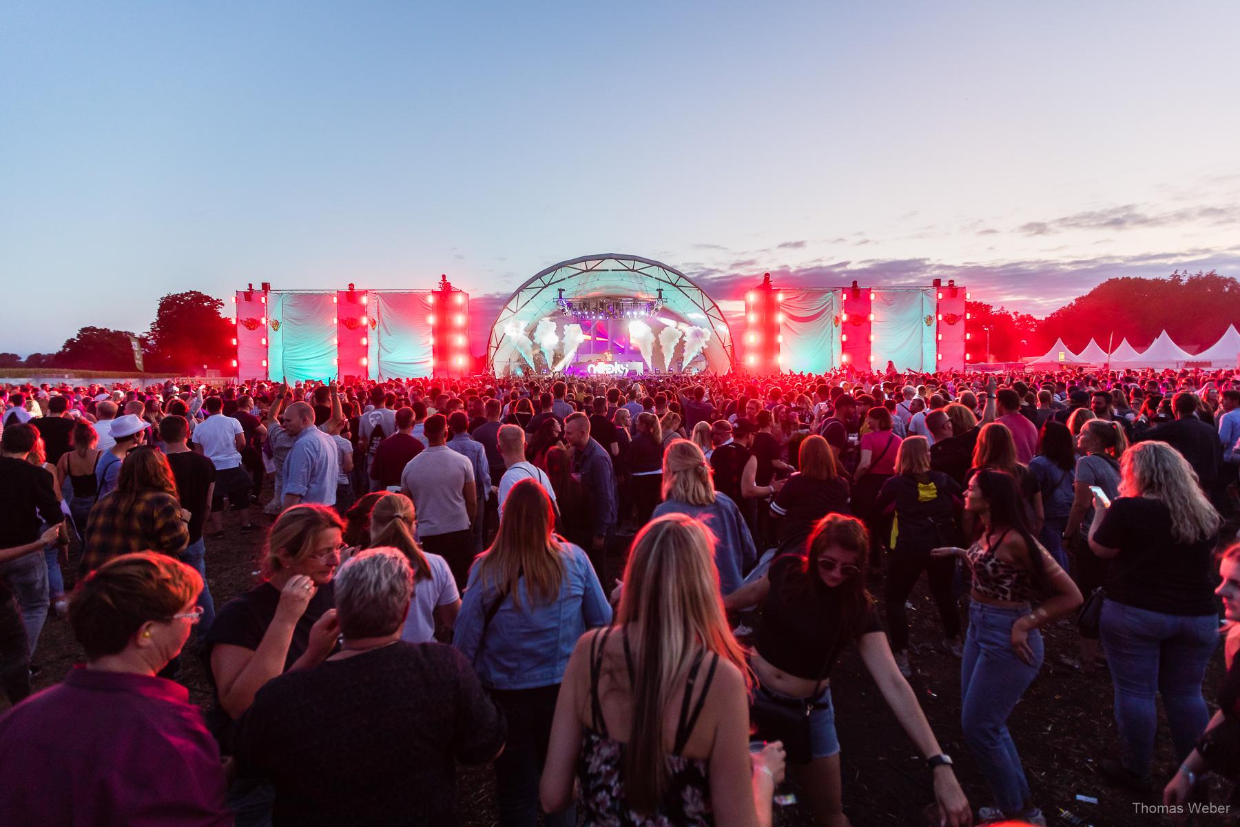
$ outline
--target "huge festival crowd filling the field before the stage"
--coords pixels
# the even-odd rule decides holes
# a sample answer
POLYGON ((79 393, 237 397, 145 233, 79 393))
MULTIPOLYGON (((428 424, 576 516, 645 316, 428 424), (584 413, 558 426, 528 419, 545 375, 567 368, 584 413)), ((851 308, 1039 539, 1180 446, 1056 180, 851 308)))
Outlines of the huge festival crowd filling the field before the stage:
POLYGON ((4 825, 451 825, 456 766, 491 764, 506 827, 770 825, 785 772, 841 827, 849 647, 944 825, 1047 823, 1007 722, 1048 657, 1110 672, 1110 782, 1183 805, 1240 770, 1235 646, 1213 719, 1203 694, 1215 594, 1240 619, 1230 372, 25 386, 0 409, 4 825), (207 541, 264 529, 260 579, 216 605, 207 541), (923 573, 941 641, 913 646, 923 573), (50 613, 84 665, 27 698, 50 613), (929 657, 960 662, 988 801, 909 686, 929 657))

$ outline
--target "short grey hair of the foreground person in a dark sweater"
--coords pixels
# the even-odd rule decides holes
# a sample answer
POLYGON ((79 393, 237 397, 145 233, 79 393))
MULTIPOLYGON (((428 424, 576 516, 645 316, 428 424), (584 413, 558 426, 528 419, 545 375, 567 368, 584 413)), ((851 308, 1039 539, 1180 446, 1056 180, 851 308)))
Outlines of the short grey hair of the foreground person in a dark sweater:
POLYGON ((332 584, 341 634, 353 640, 382 637, 404 622, 413 596, 413 569, 402 552, 371 548, 348 558, 332 584))

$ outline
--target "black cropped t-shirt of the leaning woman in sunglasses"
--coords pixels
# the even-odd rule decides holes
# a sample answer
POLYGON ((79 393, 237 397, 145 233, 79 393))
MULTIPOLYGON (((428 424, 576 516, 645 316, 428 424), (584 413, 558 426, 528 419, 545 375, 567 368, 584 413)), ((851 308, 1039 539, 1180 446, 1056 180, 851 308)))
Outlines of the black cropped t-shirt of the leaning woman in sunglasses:
POLYGON ((883 624, 874 604, 867 601, 862 616, 852 624, 853 634, 842 635, 842 586, 828 589, 821 582, 811 582, 817 572, 806 572, 805 559, 800 554, 784 554, 771 563, 766 574, 771 588, 763 605, 755 648, 781 672, 822 681, 849 642, 869 632, 882 634, 883 624))

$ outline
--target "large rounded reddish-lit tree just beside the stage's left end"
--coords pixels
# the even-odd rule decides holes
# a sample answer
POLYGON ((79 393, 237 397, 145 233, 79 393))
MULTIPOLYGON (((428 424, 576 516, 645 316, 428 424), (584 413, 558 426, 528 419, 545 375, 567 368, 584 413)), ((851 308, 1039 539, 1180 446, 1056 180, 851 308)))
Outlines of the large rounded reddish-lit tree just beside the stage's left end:
POLYGON ((222 368, 232 363, 236 331, 219 315, 224 303, 205 293, 170 293, 159 300, 155 321, 146 335, 150 368, 192 371, 203 365, 222 368))

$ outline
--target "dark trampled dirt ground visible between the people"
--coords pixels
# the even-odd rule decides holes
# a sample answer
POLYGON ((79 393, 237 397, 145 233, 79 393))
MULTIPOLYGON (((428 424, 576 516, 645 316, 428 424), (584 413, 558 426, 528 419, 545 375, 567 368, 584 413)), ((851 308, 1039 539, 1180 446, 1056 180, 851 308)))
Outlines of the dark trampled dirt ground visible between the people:
MULTIPOLYGON (((259 516, 257 507, 254 515, 259 524, 269 524, 269 518, 259 516)), ((207 541, 208 583, 217 608, 257 582, 257 559, 263 542, 258 532, 242 534, 236 531, 236 523, 227 524, 226 538, 207 541)), ((73 565, 76 563, 74 554, 73 565)), ((609 559, 609 579, 619 575, 621 567, 620 555, 609 559)), ((872 588, 882 591, 877 584, 872 588)), ((957 776, 976 810, 992 801, 961 735, 960 661, 934 646, 940 637, 937 616, 924 580, 910 603, 914 608, 910 611, 913 645, 924 647, 911 656, 916 670, 911 683, 940 743, 954 756, 957 776)), ((211 703, 211 689, 192 650, 191 639, 181 658, 180 679, 190 688, 191 699, 206 708, 211 703)), ((1105 670, 1084 677, 1055 662, 1059 653, 1073 651, 1075 630, 1070 624, 1047 632, 1047 663, 1008 722, 1029 785, 1048 823, 1095 827, 1172 823, 1158 816, 1137 813, 1133 796, 1107 786, 1095 771, 1095 763, 1115 750, 1111 683, 1105 670), (1096 798, 1097 803, 1080 801, 1078 796, 1096 798)), ((62 679, 81 658, 68 622, 50 616, 35 655, 41 667, 36 688, 62 679)), ((1208 699, 1213 698, 1221 674, 1220 646, 1207 674, 1208 699)), ((926 817, 926 807, 932 803, 930 774, 854 652, 847 653, 833 672, 832 692, 843 746, 844 810, 852 823, 857 827, 931 823, 926 817)), ((2 708, 0 705, 0 710, 2 708)), ((1174 769, 1171 736, 1161 718, 1154 777, 1162 784, 1174 769)), ((784 786, 781 792, 796 792, 791 781, 784 786)), ((461 825, 489 827, 496 823, 494 784, 487 767, 463 769, 459 789, 461 825)), ((1211 782, 1210 798, 1226 800, 1223 782, 1211 782)), ((1154 796, 1147 800, 1147 803, 1157 802, 1154 796)), ((1189 823, 1234 823, 1226 816, 1199 818, 1189 823)), ((776 823, 810 827, 812 820, 804 805, 794 805, 777 808, 776 823)))

